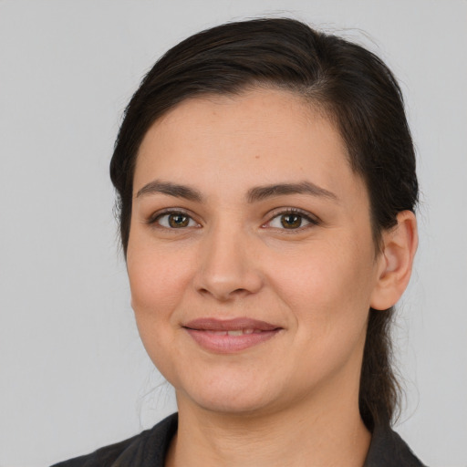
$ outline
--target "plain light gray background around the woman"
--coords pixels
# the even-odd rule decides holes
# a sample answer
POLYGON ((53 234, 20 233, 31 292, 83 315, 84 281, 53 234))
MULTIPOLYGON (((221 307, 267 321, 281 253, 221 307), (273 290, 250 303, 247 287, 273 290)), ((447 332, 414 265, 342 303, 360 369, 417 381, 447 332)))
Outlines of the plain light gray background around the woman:
POLYGON ((109 158, 162 52, 261 14, 354 38, 400 78, 422 197, 397 430, 431 466, 467 466, 464 0, 0 0, 0 466, 86 453, 174 410, 133 322, 109 158))

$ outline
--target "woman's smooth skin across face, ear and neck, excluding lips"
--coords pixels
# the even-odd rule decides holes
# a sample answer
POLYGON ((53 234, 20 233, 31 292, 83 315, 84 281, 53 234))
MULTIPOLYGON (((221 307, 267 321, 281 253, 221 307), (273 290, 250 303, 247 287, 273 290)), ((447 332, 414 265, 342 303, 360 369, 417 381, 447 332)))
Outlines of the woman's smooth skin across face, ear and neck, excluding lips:
POLYGON ((337 130, 288 91, 187 99, 152 125, 127 264, 140 337, 177 396, 167 466, 363 465, 368 310, 397 302, 417 247, 413 213, 398 220, 378 253, 337 130), (222 354, 184 328, 202 317, 280 331, 222 354))

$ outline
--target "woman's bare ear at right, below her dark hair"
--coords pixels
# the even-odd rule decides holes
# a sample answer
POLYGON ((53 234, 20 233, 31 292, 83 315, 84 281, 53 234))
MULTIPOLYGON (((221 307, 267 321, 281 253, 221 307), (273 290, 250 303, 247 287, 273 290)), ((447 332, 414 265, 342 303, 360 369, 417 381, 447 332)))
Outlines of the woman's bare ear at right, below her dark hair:
POLYGON ((386 310, 402 296, 409 284, 413 257, 419 244, 417 219, 411 211, 398 214, 397 225, 382 235, 382 252, 378 258, 377 283, 370 306, 386 310))

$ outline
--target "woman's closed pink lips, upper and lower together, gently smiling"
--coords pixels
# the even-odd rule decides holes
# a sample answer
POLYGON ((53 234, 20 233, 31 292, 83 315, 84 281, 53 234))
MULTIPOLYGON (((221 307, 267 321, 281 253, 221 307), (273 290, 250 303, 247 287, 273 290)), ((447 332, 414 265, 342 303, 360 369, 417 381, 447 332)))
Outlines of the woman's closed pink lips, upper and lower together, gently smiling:
POLYGON ((259 345, 282 329, 271 323, 239 317, 234 319, 199 318, 183 325, 202 348, 216 353, 235 353, 259 345))

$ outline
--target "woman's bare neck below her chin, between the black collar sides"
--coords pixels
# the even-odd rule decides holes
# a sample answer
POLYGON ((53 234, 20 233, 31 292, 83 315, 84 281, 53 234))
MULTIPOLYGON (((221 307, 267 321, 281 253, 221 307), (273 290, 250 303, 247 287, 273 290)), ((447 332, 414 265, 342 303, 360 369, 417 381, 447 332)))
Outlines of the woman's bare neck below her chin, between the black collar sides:
POLYGON ((352 400, 327 391, 262 414, 213 412, 177 396, 179 429, 166 467, 361 467, 365 462, 371 436, 358 412, 358 391, 352 400))

